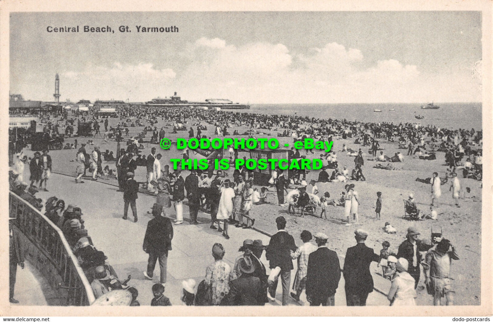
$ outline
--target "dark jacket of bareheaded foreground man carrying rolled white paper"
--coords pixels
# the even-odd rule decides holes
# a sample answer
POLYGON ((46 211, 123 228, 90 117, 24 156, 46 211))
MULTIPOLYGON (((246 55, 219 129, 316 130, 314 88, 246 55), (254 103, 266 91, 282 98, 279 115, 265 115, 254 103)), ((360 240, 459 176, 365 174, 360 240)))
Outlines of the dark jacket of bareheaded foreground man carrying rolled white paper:
POLYGON ((269 267, 276 268, 279 266, 282 270, 293 269, 293 259, 289 251, 294 252, 296 248, 293 236, 285 231, 278 231, 271 237, 269 246, 265 251, 265 257, 269 260, 269 267))

